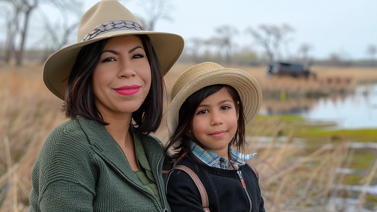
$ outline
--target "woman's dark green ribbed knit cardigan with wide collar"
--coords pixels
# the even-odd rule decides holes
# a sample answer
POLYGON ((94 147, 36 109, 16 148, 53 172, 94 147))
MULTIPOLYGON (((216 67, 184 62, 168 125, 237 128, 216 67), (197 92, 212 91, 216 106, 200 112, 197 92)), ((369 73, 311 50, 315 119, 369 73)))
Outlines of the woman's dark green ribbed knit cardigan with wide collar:
POLYGON ((162 206, 106 128, 78 117, 55 128, 44 142, 31 174, 29 211, 170 211, 162 180, 163 144, 150 135, 139 138, 162 206))

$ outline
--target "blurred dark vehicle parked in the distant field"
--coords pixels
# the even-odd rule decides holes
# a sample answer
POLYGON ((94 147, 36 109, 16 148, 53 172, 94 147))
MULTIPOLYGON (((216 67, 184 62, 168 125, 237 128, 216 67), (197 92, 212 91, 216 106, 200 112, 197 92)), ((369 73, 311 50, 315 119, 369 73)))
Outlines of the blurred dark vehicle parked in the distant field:
POLYGON ((268 66, 265 66, 265 71, 267 75, 291 75, 292 77, 303 76, 305 78, 313 75, 314 79, 316 78, 316 74, 311 72, 308 67, 305 67, 305 65, 301 63, 270 63, 268 66))

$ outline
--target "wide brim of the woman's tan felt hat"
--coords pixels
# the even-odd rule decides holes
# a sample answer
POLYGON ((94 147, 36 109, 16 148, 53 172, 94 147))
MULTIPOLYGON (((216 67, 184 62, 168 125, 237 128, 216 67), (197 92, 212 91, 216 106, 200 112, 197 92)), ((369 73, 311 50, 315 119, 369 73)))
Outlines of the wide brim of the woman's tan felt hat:
POLYGON ((164 76, 182 54, 184 40, 181 36, 166 32, 117 30, 100 34, 87 41, 75 43, 52 54, 44 63, 44 84, 55 96, 64 100, 67 79, 83 46, 105 38, 138 34, 146 34, 150 37, 162 68, 161 74, 164 76))

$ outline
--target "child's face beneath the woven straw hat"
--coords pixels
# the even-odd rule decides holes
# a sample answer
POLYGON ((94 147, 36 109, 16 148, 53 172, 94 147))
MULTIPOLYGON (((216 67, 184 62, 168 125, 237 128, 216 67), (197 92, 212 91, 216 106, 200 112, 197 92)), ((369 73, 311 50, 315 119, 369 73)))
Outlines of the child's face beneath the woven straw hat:
POLYGON ((234 103, 226 88, 205 98, 196 109, 190 132, 215 154, 228 152, 228 144, 237 131, 238 103, 234 103))

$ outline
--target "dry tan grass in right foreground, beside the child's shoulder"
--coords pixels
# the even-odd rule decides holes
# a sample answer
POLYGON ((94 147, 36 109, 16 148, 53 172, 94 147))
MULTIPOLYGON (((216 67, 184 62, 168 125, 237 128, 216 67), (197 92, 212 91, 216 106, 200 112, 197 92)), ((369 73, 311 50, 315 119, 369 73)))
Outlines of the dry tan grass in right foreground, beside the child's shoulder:
MULTIPOLYGON (((275 126, 275 137, 266 146, 253 148, 258 145, 252 139, 248 143, 250 153, 258 152, 258 157, 252 160, 259 169, 266 211, 333 211, 328 208, 329 198, 342 198, 347 193, 337 191, 334 186, 343 184, 345 177, 336 170, 349 167, 352 160, 354 150, 349 149, 349 142, 343 140, 336 146, 325 144, 307 152, 303 146, 292 143, 291 132, 284 143, 276 147, 279 125, 275 126)), ((375 171, 371 173, 375 175, 375 171)), ((359 198, 362 203, 363 198, 359 198)), ((343 211, 342 205, 338 207, 336 211, 343 211)))

